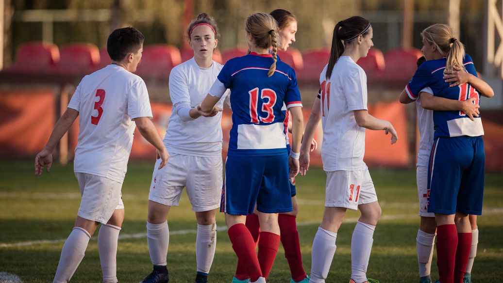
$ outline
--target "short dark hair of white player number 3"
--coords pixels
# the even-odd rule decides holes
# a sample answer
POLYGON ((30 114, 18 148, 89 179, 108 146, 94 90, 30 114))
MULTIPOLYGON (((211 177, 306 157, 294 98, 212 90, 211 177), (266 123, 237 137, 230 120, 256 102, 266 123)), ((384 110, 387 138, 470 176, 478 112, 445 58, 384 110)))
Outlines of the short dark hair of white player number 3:
POLYGON ((113 31, 107 40, 107 51, 114 61, 122 61, 129 53, 140 50, 145 38, 135 28, 122 28, 113 31))

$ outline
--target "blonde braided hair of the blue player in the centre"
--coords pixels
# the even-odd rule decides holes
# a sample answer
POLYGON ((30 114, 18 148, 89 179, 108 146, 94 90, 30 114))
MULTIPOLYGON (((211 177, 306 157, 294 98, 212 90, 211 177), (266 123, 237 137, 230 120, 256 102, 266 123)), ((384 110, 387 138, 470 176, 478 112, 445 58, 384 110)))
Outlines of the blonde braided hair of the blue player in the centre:
POLYGON ((278 24, 267 13, 255 13, 246 18, 245 31, 251 36, 258 48, 269 49, 273 47, 273 64, 269 68, 267 76, 270 77, 276 71, 278 61, 278 24))

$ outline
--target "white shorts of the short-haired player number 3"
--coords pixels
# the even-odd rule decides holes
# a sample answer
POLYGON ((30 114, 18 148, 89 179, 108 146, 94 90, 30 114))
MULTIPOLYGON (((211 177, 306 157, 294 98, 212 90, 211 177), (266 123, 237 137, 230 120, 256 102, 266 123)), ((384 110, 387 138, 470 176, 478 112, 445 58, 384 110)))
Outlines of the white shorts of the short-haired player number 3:
POLYGON ((80 188, 80 207, 77 215, 107 224, 116 209, 123 209, 122 183, 88 173, 75 172, 80 188))

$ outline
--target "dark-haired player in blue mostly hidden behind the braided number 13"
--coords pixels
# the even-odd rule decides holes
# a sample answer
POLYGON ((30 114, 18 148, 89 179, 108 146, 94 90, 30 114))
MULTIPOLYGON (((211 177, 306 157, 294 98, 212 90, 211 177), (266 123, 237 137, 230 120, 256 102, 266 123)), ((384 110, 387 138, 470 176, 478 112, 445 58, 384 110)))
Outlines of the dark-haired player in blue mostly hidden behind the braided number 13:
MULTIPOLYGON (((278 35, 280 38, 280 44, 278 49, 281 51, 286 51, 288 46, 295 42, 295 33, 297 32, 297 18, 292 13, 277 9, 270 13, 271 16, 278 23, 278 35)), ((286 113, 285 122, 288 125, 288 130, 291 131, 291 122, 289 120, 289 112, 286 113)), ((291 147, 288 140, 288 134, 286 135, 287 140, 287 151, 290 154, 291 147)), ((311 151, 315 150, 317 147, 316 140, 313 138, 311 141, 311 151)), ((291 282, 305 282, 309 280, 304 268, 302 267, 302 254, 300 252, 299 243, 299 232, 297 231, 296 217, 299 213, 299 206, 297 204, 296 188, 295 188, 295 178, 290 180, 290 194, 292 196, 292 206, 293 210, 291 212, 280 213, 278 215, 278 224, 281 231, 281 242, 283 248, 285 249, 285 257, 287 258, 288 264, 290 266, 290 272, 292 274, 291 282)), ((257 212, 257 211, 256 211, 257 212)), ((260 235, 260 223, 257 213, 248 214, 246 216, 246 227, 253 236, 255 245, 259 241, 260 235)), ((241 283, 248 282, 248 274, 246 269, 240 263, 237 262, 236 273, 232 278, 232 282, 241 283)))

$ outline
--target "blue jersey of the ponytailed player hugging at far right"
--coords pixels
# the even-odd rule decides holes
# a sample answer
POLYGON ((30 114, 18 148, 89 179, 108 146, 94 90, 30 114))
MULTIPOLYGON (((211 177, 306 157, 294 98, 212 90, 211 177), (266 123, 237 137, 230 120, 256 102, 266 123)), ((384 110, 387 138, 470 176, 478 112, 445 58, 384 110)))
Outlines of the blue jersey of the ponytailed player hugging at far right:
MULTIPOLYGON (((408 96, 415 100, 421 90, 429 86, 435 96, 461 101, 475 97, 475 103, 478 104, 480 94, 469 83, 449 87, 449 83, 445 82, 443 77, 446 62, 447 59, 444 57, 437 60, 428 60, 421 64, 405 87, 408 96)), ((475 66, 468 54, 465 55, 463 60, 463 67, 468 73, 477 76, 475 66)), ((472 121, 463 111, 434 111, 433 122, 435 124, 434 138, 484 134, 480 117, 475 117, 475 121, 472 121)))

